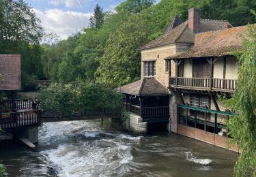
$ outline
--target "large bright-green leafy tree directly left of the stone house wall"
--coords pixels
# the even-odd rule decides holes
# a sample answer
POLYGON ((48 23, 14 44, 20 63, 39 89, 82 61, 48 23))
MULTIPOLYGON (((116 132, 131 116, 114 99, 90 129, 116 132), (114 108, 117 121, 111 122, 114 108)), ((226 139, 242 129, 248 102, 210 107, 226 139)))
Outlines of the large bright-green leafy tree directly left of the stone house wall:
POLYGON ((141 75, 139 47, 147 42, 150 28, 137 14, 132 15, 108 40, 96 71, 98 82, 126 84, 141 75))

